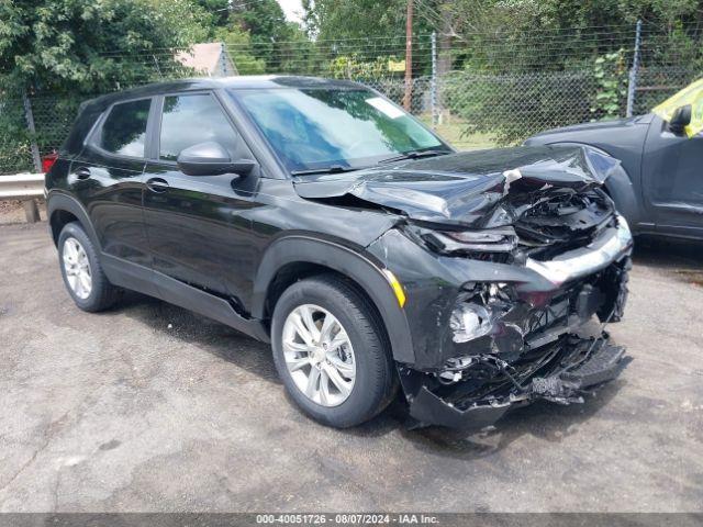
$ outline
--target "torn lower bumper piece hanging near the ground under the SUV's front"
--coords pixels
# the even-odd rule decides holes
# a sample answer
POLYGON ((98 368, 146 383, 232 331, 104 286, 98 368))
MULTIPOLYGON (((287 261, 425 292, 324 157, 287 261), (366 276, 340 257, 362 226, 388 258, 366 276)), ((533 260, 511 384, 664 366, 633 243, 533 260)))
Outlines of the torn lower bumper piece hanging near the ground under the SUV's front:
POLYGON ((410 415, 421 426, 480 430, 535 400, 582 403, 588 389, 614 379, 627 363, 624 348, 606 338, 567 335, 512 362, 494 355, 465 357, 434 378, 401 367, 410 415))

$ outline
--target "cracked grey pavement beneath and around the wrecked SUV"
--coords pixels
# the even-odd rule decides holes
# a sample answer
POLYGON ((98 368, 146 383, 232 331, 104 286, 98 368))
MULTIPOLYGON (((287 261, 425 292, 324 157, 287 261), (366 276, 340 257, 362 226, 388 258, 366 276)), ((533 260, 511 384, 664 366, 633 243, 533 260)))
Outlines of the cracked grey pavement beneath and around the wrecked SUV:
POLYGON ((702 511, 703 258, 638 251, 584 405, 470 437, 305 418, 266 346, 140 295, 78 311, 46 224, 0 226, 0 512, 702 511))

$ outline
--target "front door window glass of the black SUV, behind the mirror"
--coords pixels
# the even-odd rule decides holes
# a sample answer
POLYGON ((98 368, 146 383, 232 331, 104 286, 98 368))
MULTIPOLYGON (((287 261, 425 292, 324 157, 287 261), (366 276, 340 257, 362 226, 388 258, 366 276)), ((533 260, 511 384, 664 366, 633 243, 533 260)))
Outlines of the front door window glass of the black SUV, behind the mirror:
POLYGON ((236 135, 217 101, 207 93, 166 97, 159 157, 176 160, 183 148, 208 141, 234 154, 236 135))

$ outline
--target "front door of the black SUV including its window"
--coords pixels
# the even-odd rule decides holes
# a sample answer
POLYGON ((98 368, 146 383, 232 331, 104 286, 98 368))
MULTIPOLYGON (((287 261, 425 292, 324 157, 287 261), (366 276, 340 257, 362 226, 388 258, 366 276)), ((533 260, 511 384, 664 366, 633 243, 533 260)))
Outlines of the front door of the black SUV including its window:
POLYGON ((156 152, 145 170, 145 225, 154 270, 180 282, 239 299, 253 267, 247 211, 256 177, 187 176, 178 154, 214 141, 232 159, 252 158, 212 93, 165 96, 156 152))

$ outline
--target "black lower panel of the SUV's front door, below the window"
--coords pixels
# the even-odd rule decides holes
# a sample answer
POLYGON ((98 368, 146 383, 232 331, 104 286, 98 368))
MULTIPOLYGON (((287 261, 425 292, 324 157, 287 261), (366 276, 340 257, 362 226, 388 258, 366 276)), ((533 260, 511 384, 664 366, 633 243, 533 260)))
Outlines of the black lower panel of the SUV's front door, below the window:
POLYGON ((145 226, 154 270, 224 296, 238 298, 252 274, 253 236, 245 212, 255 206, 254 180, 232 175, 189 177, 147 165, 146 179, 167 186, 144 191, 145 226))

